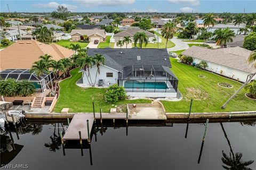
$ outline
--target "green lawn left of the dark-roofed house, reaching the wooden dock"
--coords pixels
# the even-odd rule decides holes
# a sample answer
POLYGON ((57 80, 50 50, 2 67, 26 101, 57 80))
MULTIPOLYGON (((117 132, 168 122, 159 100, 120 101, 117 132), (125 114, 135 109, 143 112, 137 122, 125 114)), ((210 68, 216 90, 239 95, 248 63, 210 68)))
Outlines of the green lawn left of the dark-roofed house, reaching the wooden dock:
MULTIPOLYGON (((60 96, 57 104, 54 107, 54 112, 61 112, 62 108, 69 108, 69 112, 93 112, 92 102, 95 104, 95 112, 109 112, 111 104, 104 101, 106 89, 99 88, 81 88, 76 85, 76 82, 81 78, 82 73, 78 73, 79 68, 72 70, 71 78, 60 82, 60 96)), ((122 100, 115 103, 126 110, 127 103, 151 103, 150 100, 122 100)))

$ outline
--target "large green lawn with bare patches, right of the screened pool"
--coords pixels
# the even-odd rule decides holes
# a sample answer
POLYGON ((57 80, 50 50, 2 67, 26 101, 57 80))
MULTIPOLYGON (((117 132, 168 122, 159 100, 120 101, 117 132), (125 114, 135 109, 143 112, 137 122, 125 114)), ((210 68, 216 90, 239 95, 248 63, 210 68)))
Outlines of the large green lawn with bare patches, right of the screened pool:
POLYGON ((256 110, 256 102, 244 96, 246 92, 244 89, 230 101, 226 109, 221 109, 222 104, 241 86, 240 83, 179 63, 174 58, 170 58, 170 60, 171 70, 179 79, 178 88, 183 99, 181 101, 162 101, 166 112, 188 112, 191 98, 194 98, 192 112, 256 110), (199 78, 199 74, 205 75, 205 78, 199 78), (219 87, 218 82, 230 83, 234 88, 219 87))

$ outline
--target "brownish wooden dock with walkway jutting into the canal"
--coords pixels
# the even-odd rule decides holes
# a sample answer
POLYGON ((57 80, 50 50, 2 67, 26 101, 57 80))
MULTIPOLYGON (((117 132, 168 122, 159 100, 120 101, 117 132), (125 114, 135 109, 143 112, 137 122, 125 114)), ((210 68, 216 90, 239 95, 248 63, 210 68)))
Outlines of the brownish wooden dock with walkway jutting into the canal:
MULTIPOLYGON (((126 113, 118 113, 118 114, 100 114, 95 113, 95 119, 126 119, 126 113)), ((81 139, 88 140, 90 134, 88 134, 87 128, 87 120, 89 120, 89 133, 91 133, 92 126, 94 123, 94 115, 93 114, 75 114, 68 126, 67 131, 63 137, 63 140, 79 140, 79 131, 81 131, 81 139)))

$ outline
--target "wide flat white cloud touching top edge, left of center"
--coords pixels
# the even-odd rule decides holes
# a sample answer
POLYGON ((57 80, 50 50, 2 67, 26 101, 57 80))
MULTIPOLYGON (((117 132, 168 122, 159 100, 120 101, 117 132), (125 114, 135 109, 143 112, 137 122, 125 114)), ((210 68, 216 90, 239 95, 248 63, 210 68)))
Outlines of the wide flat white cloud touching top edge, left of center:
POLYGON ((131 5, 135 3, 135 0, 71 0, 75 1, 83 6, 119 6, 119 5, 131 5))

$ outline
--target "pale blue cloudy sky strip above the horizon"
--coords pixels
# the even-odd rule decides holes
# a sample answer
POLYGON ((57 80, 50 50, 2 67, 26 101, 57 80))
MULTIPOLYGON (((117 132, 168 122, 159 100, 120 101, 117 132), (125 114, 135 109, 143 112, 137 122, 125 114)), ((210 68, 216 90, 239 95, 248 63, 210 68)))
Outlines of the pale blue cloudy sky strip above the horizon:
POLYGON ((73 12, 256 12, 256 1, 243 0, 0 0, 1 12, 51 12, 58 5, 73 12))

